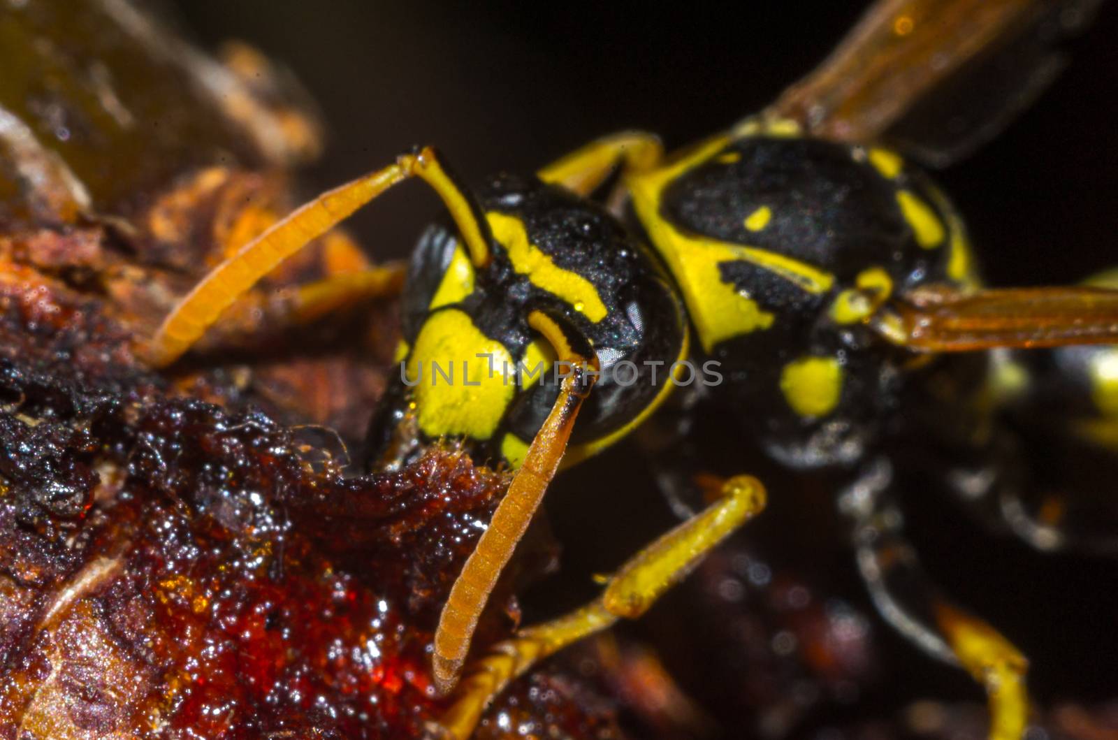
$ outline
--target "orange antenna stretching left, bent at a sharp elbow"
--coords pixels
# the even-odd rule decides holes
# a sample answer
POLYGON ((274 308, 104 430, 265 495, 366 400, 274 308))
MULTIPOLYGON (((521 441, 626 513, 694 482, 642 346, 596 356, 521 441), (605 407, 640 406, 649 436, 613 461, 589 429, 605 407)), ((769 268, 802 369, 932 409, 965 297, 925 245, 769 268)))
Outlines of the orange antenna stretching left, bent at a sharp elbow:
POLYGON ((443 199, 474 264, 487 263, 489 241, 483 219, 443 169, 435 150, 428 146, 418 154, 404 154, 382 170, 322 193, 210 271, 163 320, 148 347, 149 361, 155 367, 173 362, 226 309, 284 259, 392 186, 417 175, 443 199))

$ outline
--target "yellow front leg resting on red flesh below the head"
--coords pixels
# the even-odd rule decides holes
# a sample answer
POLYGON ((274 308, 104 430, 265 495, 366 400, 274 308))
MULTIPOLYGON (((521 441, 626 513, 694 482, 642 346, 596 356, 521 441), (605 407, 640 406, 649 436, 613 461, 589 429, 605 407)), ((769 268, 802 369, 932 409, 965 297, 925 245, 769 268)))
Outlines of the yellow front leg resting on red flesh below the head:
POLYGON ((618 570, 601 596, 552 622, 521 629, 494 645, 462 683, 461 698, 442 720, 442 734, 465 740, 482 713, 517 676, 563 647, 643 615, 712 548, 765 509, 760 481, 739 475, 720 485, 720 500, 641 550, 618 570))

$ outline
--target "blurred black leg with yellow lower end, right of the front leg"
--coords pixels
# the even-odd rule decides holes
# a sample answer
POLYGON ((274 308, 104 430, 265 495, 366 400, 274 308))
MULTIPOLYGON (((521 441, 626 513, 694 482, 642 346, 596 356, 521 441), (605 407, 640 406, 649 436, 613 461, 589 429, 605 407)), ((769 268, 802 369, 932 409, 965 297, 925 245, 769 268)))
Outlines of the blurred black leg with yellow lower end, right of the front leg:
POLYGON ((950 604, 929 582, 902 532, 901 512, 884 494, 888 461, 878 459, 842 496, 855 520, 858 565, 874 606, 929 655, 958 665, 980 683, 989 706, 991 740, 1020 740, 1029 714, 1027 661, 982 619, 950 604))

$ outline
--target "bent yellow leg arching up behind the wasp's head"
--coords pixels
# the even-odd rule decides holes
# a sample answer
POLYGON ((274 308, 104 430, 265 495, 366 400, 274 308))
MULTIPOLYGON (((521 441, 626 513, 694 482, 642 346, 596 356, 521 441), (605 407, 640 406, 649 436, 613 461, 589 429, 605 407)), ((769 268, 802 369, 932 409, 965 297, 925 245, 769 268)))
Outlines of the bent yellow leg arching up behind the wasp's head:
POLYGON ((543 182, 589 196, 618 164, 625 171, 651 170, 664 155, 660 139, 642 131, 623 131, 598 139, 537 172, 543 182))

